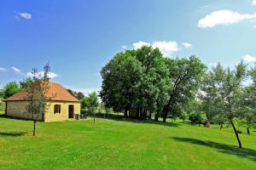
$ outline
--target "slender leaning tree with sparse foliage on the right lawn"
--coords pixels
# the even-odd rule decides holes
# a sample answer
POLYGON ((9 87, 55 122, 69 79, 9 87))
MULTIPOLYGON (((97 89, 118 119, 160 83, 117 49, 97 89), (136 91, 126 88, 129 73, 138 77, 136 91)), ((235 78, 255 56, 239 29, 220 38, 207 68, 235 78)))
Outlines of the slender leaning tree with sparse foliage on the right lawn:
POLYGON ((241 117, 246 110, 245 105, 242 104, 242 82, 246 77, 246 67, 247 65, 241 62, 236 65, 234 71, 230 71, 230 68, 224 70, 218 63, 212 71, 207 72, 202 88, 204 94, 201 98, 203 102, 212 99, 216 108, 213 110, 215 114, 229 120, 236 134, 239 148, 241 148, 241 140, 234 125, 234 118, 241 117))

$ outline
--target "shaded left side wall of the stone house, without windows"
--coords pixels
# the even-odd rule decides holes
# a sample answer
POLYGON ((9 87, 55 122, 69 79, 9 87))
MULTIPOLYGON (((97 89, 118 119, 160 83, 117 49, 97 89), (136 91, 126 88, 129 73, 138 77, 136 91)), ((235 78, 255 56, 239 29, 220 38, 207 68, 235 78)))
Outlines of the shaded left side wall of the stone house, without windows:
MULTIPOLYGON (((6 115, 23 119, 32 119, 32 114, 29 114, 26 111, 26 105, 27 101, 8 101, 6 115)), ((42 121, 41 115, 37 115, 36 117, 38 118, 38 121, 42 121)))

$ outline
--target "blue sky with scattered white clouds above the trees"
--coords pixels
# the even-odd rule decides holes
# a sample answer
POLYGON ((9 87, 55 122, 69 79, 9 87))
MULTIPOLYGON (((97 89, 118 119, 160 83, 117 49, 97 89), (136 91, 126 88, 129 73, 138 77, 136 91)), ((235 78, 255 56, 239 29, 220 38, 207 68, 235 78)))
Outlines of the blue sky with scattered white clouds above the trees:
POLYGON ((52 81, 85 94, 124 48, 196 54, 207 65, 256 61, 254 0, 2 0, 0 87, 49 61, 52 81))

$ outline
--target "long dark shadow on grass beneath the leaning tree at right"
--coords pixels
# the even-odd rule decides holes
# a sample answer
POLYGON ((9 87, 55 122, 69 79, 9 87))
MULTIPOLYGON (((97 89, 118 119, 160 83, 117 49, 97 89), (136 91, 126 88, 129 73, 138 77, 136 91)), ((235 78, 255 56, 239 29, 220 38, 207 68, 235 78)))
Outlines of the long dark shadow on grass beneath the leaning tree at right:
POLYGON ((204 146, 216 149, 219 152, 222 152, 224 154, 240 156, 240 157, 244 157, 249 160, 252 160, 252 161, 256 161, 256 150, 251 150, 251 149, 246 149, 246 148, 239 149, 238 146, 235 146, 235 145, 221 144, 221 143, 212 142, 209 140, 203 141, 203 140, 199 140, 199 139, 178 138, 178 137, 172 137, 172 139, 175 139, 179 142, 204 145, 204 146))

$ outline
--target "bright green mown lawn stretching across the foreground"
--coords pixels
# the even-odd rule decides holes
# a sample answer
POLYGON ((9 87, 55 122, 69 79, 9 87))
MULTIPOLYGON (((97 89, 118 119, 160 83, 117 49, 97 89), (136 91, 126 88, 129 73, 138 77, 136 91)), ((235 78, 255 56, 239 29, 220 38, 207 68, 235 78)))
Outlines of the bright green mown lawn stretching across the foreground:
POLYGON ((123 119, 32 122, 0 116, 0 169, 256 169, 256 132, 123 119))

